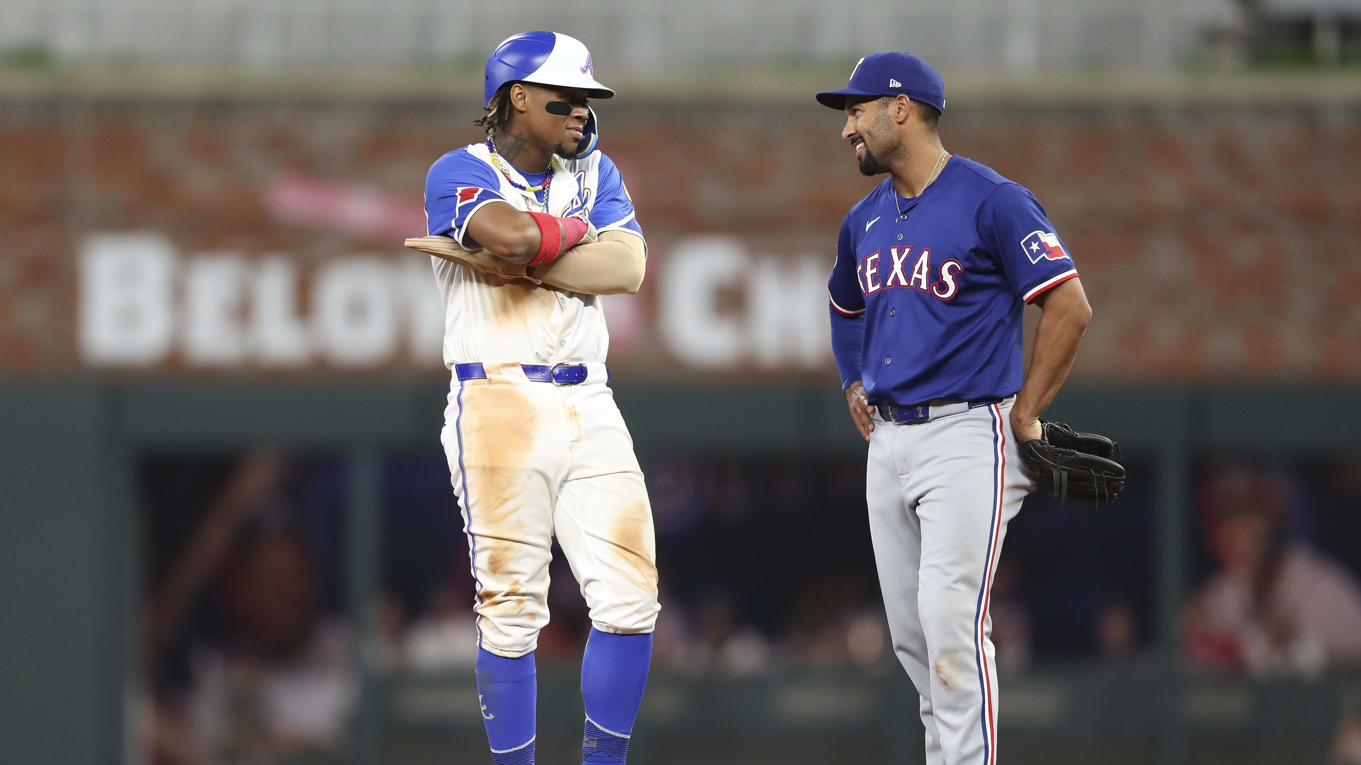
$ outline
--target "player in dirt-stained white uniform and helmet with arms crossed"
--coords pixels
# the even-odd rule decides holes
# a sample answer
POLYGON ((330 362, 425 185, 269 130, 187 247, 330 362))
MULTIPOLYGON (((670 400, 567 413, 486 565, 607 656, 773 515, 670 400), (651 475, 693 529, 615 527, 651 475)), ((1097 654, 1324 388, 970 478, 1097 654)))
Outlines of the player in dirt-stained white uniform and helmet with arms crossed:
MULTIPOLYGON (((634 293, 646 246, 596 148, 587 48, 517 34, 486 67, 486 143, 426 181, 430 237, 505 265, 433 257, 453 373, 441 441, 476 581, 478 693, 497 765, 534 762, 535 667, 554 536, 591 608, 583 762, 625 762, 657 617, 652 510, 606 385, 603 294, 634 293)), ((427 237, 427 238, 430 238, 427 237)))

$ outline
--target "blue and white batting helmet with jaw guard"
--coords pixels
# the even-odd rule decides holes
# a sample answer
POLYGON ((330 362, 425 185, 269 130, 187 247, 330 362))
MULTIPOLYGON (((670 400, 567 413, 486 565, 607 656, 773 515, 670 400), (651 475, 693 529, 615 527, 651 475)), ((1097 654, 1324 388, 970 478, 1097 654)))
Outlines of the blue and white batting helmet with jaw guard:
MULTIPOLYGON (((506 38, 487 59, 483 82, 483 106, 491 106, 491 97, 501 86, 525 82, 555 87, 577 87, 589 98, 611 98, 614 91, 595 79, 591 52, 581 41, 553 31, 527 31, 506 38)), ((595 151, 599 143, 595 110, 587 117, 585 133, 577 144, 578 159, 595 151)))

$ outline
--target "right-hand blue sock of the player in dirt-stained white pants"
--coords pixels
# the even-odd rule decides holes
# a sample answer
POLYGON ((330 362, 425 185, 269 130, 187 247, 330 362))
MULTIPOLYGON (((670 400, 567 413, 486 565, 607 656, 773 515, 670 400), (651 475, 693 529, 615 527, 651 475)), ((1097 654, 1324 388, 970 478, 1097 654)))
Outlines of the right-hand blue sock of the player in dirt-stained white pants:
POLYGON ((651 663, 651 633, 611 634, 591 628, 581 657, 581 698, 587 704, 581 762, 625 762, 651 663))

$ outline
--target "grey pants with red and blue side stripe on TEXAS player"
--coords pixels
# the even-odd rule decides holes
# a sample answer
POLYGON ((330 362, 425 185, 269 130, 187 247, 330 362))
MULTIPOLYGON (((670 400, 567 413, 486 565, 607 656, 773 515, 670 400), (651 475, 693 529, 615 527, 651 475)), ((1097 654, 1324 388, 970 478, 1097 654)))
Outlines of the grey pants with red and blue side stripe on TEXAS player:
POLYGON ((998 674, 988 595, 1007 521, 1034 489, 1011 402, 917 425, 875 415, 870 536, 893 649, 921 694, 927 765, 995 765, 998 674))

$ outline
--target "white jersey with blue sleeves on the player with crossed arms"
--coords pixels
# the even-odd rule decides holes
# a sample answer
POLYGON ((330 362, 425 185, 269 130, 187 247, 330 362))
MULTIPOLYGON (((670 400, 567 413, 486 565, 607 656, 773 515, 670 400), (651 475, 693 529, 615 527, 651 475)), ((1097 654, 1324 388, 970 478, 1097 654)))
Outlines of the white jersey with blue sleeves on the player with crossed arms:
MULTIPOLYGON (((585 210, 599 231, 642 237, 619 170, 600 151, 583 159, 555 158, 547 200, 543 192, 521 191, 514 184, 535 185, 509 162, 501 161, 498 169, 486 144, 445 154, 426 178, 429 233, 474 246, 465 238, 472 215, 486 204, 509 203, 516 210, 558 216, 585 210)), ((604 362, 610 336, 599 295, 506 284, 465 265, 433 256, 430 260, 444 297, 445 366, 604 362)))

